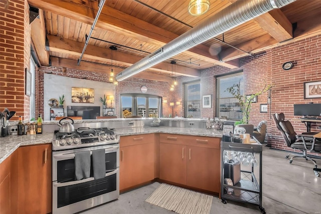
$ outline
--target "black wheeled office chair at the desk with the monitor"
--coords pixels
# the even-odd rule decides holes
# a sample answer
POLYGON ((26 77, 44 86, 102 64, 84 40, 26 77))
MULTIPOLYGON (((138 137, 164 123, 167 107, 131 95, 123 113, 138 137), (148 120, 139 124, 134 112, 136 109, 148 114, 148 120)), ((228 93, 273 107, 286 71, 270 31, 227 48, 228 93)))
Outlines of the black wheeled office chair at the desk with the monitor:
MULTIPOLYGON (((317 134, 317 132, 305 132, 300 135, 297 135, 293 129, 293 126, 291 122, 284 121, 285 117, 283 113, 280 114, 274 114, 273 115, 273 121, 277 129, 281 132, 282 137, 284 138, 284 141, 288 147, 291 147, 292 149, 298 149, 303 151, 302 155, 295 155, 291 157, 289 160, 289 163, 292 163, 293 158, 296 157, 302 157, 305 158, 305 160, 310 160, 314 163, 314 174, 315 176, 319 176, 319 172, 321 169, 317 168, 317 163, 315 160, 313 160, 307 152, 313 152, 313 153, 321 153, 321 139, 320 138, 313 138, 314 135, 317 134)), ((285 156, 285 158, 289 158, 291 154, 288 154, 285 156)))

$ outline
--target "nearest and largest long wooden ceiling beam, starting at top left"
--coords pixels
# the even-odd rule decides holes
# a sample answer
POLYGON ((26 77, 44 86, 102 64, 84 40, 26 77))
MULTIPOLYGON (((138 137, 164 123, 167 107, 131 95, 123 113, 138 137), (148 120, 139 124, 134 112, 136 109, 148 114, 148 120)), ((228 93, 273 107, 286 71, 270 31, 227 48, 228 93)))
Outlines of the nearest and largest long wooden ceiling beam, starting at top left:
MULTIPOLYGON (((93 3, 89 0, 82 0, 80 3, 63 0, 28 0, 28 2, 34 7, 89 25, 92 25, 98 8, 96 2, 93 3)), ((102 9, 96 27, 159 47, 164 46, 179 36, 107 6, 104 6, 102 9)), ((218 56, 212 56, 208 50, 209 47, 200 44, 183 53, 213 64, 237 68, 235 64, 220 62, 218 56)))

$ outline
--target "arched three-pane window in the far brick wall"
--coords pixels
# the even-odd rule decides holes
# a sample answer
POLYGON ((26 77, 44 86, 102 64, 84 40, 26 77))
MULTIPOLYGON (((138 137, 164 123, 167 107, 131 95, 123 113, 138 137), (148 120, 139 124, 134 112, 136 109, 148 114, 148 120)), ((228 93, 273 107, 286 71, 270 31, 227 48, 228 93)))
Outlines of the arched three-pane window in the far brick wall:
POLYGON ((139 93, 121 94, 120 101, 123 117, 156 118, 162 114, 162 97, 160 96, 139 93))

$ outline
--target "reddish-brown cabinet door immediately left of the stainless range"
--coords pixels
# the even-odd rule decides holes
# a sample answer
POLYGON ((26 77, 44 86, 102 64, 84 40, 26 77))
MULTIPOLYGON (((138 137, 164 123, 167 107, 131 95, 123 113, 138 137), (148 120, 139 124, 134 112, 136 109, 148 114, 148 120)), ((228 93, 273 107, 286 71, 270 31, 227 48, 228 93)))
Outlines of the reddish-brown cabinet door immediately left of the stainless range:
POLYGON ((18 212, 51 212, 51 144, 18 149, 18 212))

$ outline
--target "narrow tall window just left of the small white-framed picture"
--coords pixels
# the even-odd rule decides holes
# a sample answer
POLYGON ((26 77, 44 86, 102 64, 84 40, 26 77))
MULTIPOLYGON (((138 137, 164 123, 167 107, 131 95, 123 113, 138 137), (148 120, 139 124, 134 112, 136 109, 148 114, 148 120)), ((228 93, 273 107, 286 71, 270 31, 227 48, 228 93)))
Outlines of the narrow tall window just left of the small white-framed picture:
POLYGON ((185 84, 185 118, 201 117, 201 83, 185 84))

